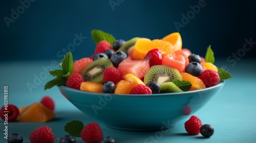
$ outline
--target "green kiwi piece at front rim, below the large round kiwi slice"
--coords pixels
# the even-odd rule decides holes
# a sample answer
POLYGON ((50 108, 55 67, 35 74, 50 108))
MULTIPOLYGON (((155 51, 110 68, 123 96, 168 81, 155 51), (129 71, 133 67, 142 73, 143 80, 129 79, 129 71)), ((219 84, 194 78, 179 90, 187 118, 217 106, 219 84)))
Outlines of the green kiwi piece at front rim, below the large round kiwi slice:
POLYGON ((160 84, 160 87, 160 93, 182 92, 182 90, 173 82, 162 83, 160 84))

